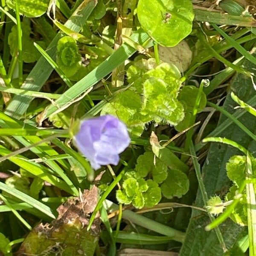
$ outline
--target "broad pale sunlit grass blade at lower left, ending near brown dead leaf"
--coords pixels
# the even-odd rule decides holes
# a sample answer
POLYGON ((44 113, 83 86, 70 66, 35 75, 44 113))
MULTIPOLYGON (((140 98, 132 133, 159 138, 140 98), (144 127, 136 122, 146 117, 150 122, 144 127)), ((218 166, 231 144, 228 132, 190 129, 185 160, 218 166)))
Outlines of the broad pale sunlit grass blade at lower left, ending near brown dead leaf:
POLYGON ((20 199, 21 201, 26 202, 27 204, 30 204, 32 207, 35 207, 36 209, 43 212, 50 218, 55 219, 55 216, 53 215, 51 208, 40 203, 39 201, 35 200, 34 198, 30 197, 29 195, 26 195, 25 193, 20 192, 19 190, 15 189, 15 188, 7 186, 3 182, 0 182, 0 189, 15 196, 16 198, 20 199))

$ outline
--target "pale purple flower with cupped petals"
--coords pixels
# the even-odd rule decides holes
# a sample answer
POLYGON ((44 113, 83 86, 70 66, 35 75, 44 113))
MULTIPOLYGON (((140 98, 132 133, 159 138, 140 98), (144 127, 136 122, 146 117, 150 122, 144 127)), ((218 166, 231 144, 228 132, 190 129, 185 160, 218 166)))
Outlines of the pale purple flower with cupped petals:
POLYGON ((117 165, 130 141, 125 124, 111 115, 83 120, 75 136, 77 148, 96 170, 101 165, 117 165))

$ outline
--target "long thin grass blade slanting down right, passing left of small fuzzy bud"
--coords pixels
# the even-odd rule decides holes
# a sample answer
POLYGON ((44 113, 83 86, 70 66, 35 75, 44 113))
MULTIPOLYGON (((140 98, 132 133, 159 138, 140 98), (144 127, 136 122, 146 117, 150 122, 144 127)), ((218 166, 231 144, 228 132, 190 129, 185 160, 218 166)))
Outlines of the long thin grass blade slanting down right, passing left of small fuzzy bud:
MULTIPOLYGON (((206 192, 206 189, 205 189, 205 186, 204 186, 204 181, 203 181, 203 177, 202 177, 202 174, 201 174, 200 164, 198 163, 196 153, 195 153, 195 148, 194 148, 194 145, 193 145, 192 141, 190 143, 190 154, 192 156, 194 156, 194 157, 192 157, 192 161, 193 161, 194 168, 195 168, 195 174, 196 174, 197 179, 198 179, 198 186, 199 186, 202 198, 203 198, 204 206, 206 207, 207 206, 207 201, 208 201, 208 196, 207 196, 207 192, 206 192)), ((209 219, 211 221, 215 220, 215 218, 211 214, 208 213, 208 216, 209 216, 209 219)), ((226 244, 224 242, 223 236, 221 234, 221 230, 218 227, 215 228, 215 233, 216 233, 216 236, 218 237, 218 241, 220 242, 223 251, 226 252, 227 247, 226 247, 226 244)))

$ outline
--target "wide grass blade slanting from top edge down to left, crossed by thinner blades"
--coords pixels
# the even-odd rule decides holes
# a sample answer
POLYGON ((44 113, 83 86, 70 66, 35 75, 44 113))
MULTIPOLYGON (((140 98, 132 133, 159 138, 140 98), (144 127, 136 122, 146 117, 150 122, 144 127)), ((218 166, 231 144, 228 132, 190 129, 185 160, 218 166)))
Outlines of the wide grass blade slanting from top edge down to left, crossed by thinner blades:
MULTIPOLYGON (((69 20, 67 20, 65 26, 75 32, 79 32, 95 6, 96 0, 84 0, 69 20)), ((47 47, 47 53, 53 60, 56 58, 57 43, 61 37, 62 34, 59 32, 52 40, 51 44, 49 44, 49 47, 47 47)), ((47 60, 41 57, 29 73, 29 76, 26 78, 21 88, 24 90, 40 91, 52 73, 52 70, 47 60)), ((33 99, 34 98, 31 96, 16 95, 6 108, 5 113, 20 119, 33 99)))

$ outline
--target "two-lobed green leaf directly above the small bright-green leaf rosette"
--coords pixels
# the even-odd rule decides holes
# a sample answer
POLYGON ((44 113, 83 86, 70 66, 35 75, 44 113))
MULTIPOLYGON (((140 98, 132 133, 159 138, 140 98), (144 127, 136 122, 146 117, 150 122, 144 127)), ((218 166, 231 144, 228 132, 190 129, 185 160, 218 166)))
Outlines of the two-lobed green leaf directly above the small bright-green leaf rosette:
POLYGON ((139 177, 146 177, 150 173, 156 183, 162 183, 166 179, 167 169, 167 165, 157 158, 154 164, 154 153, 151 151, 145 152, 137 159, 137 175, 139 177))

